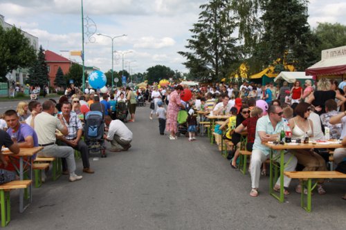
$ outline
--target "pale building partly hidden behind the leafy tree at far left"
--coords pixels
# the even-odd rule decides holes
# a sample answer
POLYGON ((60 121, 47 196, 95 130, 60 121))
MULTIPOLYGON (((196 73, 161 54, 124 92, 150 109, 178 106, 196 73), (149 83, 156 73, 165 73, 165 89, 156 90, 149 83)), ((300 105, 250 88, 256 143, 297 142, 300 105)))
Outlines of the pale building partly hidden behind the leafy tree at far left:
MULTIPOLYGON (((0 15, 0 26, 3 28, 12 28, 13 26, 10 23, 7 23, 5 21, 5 17, 3 15, 0 15)), ((35 50, 38 52, 39 50, 39 39, 38 37, 35 37, 33 35, 30 35, 28 32, 25 32, 21 30, 24 37, 29 39, 31 46, 35 48, 35 50)), ((28 69, 27 68, 17 68, 17 70, 12 70, 11 73, 8 73, 6 75, 7 79, 10 80, 11 85, 14 86, 15 84, 21 84, 24 85, 26 77, 28 77, 28 69)))

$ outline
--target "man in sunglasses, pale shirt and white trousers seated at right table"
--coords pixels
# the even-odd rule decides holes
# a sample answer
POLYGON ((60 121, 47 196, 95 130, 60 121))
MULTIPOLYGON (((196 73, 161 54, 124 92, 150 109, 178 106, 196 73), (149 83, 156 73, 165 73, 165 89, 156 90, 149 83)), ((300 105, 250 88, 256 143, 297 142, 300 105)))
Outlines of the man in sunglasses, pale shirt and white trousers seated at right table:
MULTIPOLYGON (((255 142, 253 144, 253 152, 251 155, 251 193, 253 197, 257 197, 258 188, 260 186, 261 165, 269 158, 270 148, 264 146, 262 142, 275 142, 280 138, 280 131, 284 123, 282 122, 282 108, 272 105, 268 108, 268 115, 261 117, 257 121, 255 142)), ((280 157, 278 158, 280 160, 280 157)), ((285 166, 285 171, 295 171, 297 166, 297 158, 291 153, 284 155, 284 162, 289 162, 285 166), (291 159, 291 160, 290 160, 291 159)), ((290 178, 284 176, 284 187, 288 187, 291 182, 290 178)), ((280 192, 280 178, 277 180, 274 190, 280 192)), ((285 195, 289 192, 284 190, 285 195)))

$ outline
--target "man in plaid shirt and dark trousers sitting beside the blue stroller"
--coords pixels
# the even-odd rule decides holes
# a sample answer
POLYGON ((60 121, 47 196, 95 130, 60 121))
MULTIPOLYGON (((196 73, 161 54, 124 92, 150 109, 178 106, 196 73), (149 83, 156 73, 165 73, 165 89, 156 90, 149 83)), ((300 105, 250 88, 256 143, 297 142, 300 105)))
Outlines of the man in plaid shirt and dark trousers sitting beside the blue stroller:
MULTIPOLYGON (((83 134, 82 122, 76 113, 71 113, 71 108, 72 105, 70 102, 64 102, 62 104, 62 117, 69 133, 67 135, 58 137, 58 139, 63 142, 62 145, 71 146, 72 148, 80 151, 82 155, 84 173, 94 173, 94 171, 90 169, 89 148, 81 139, 83 134)), ((66 160, 64 159, 62 162, 62 170, 66 172, 66 160)))

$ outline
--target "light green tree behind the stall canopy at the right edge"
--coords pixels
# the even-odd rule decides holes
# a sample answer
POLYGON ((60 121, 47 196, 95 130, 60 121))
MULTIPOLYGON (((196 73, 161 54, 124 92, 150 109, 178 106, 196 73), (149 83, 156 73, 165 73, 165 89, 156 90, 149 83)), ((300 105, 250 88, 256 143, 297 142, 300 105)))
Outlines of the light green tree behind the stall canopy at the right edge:
POLYGON ((321 50, 345 46, 346 44, 346 26, 340 23, 318 23, 312 32, 318 39, 317 47, 313 47, 318 60, 321 59, 321 50))

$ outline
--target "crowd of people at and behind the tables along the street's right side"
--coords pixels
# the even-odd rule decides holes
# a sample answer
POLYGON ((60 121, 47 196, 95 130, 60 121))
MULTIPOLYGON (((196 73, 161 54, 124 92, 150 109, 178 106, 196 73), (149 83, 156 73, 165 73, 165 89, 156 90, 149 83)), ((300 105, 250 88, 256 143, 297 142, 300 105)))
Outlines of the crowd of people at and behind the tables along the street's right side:
MULTIPOLYGON (((152 87, 151 99, 154 106, 149 118, 156 113, 159 117, 160 134, 170 133, 170 140, 176 140, 179 127, 177 124, 179 111, 188 111, 188 117, 196 114, 191 111, 206 111, 211 115, 229 115, 224 125, 225 139, 231 140, 235 149, 230 152, 230 166, 237 169, 237 157, 240 149, 240 133, 247 131, 246 150, 252 151, 251 164, 251 193, 257 197, 260 188, 260 175, 266 174, 266 165, 270 148, 263 142, 280 140, 280 133, 287 127, 291 130, 293 139, 304 140, 341 140, 346 144, 346 111, 345 111, 346 80, 338 83, 336 80, 322 78, 316 84, 310 79, 305 80, 304 86, 296 81, 293 86, 282 82, 274 86, 268 82, 265 86, 244 82, 239 88, 237 84, 215 84, 213 86, 175 86, 158 90, 152 87), (179 96, 184 88, 192 91, 192 98, 184 102, 179 96), (160 93, 165 90, 165 97, 160 93), (169 92, 167 94, 167 92, 169 92), (162 109, 167 103, 166 111, 162 109), (163 122, 165 120, 165 124, 163 122), (328 132, 325 133, 325 129, 328 132)), ((189 141, 195 140, 197 122, 188 118, 189 141), (190 128, 191 127, 191 128, 190 128)), ((215 129, 215 132, 217 130, 215 129)), ((325 149, 296 149, 285 154, 286 171, 326 171, 328 154, 325 149)), ((334 163, 340 164, 345 160, 346 148, 334 151, 334 163)), ((341 166, 341 164, 340 164, 341 166)), ((284 194, 289 195, 290 178, 284 177, 284 194)), ((274 186, 280 191, 280 181, 274 186)), ((301 184, 295 187, 297 193, 307 193, 301 184), (302 191, 303 190, 303 191, 302 191)), ((323 180, 318 180, 317 192, 325 194, 323 180)), ((346 195, 343 197, 346 200, 346 195)))

